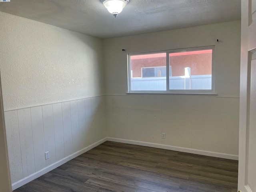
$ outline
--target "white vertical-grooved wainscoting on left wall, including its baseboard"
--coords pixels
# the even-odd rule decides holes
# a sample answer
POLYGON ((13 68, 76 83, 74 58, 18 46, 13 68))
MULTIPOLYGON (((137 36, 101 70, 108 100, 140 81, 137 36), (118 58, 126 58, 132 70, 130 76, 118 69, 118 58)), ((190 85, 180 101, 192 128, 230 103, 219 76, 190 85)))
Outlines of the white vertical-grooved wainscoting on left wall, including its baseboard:
POLYGON ((105 114, 105 96, 6 111, 13 190, 104 142, 105 114))

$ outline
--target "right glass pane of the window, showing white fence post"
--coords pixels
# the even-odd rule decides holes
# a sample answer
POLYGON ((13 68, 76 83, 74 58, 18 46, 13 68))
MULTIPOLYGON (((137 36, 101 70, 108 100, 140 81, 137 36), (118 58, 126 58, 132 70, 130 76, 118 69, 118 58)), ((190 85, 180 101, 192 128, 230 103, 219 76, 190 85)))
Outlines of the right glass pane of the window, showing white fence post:
POLYGON ((211 90, 212 49, 169 54, 170 90, 211 90))

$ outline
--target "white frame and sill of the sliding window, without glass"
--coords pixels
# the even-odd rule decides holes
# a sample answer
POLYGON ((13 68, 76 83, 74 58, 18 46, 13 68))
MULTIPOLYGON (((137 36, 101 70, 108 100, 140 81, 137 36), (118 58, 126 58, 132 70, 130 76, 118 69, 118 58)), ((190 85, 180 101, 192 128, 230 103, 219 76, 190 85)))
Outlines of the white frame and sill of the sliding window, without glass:
MULTIPOLYGON (((162 51, 152 51, 152 52, 138 52, 138 53, 128 53, 128 92, 127 93, 145 93, 145 94, 208 94, 217 95, 215 92, 215 46, 204 46, 204 47, 194 47, 194 48, 182 48, 174 50, 162 50, 162 51), (200 50, 212 50, 212 89, 211 90, 170 90, 169 86, 169 54, 177 52, 190 52, 190 51, 200 51, 200 50), (146 55, 146 54, 156 54, 156 53, 166 53, 166 90, 164 91, 152 91, 152 90, 131 90, 131 64, 130 57, 135 55, 146 55)), ((152 67, 150 67, 152 68, 152 67)))

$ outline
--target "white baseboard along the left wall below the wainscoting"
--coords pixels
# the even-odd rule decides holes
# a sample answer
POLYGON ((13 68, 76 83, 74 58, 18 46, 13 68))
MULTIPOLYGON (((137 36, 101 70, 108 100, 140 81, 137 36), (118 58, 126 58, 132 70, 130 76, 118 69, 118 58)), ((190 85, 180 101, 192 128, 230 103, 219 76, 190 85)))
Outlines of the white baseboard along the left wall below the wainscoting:
POLYGON ((81 154, 91 150, 92 148, 94 148, 94 147, 104 143, 106 140, 107 140, 107 138, 99 140, 99 141, 95 142, 94 144, 91 144, 88 147, 86 147, 86 148, 84 148, 84 149, 82 149, 82 150, 80 150, 78 152, 75 152, 75 153, 73 153, 70 156, 67 156, 67 157, 63 158, 62 160, 59 160, 58 162, 56 162, 56 163, 54 163, 54 164, 52 164, 50 166, 47 166, 46 168, 43 168, 42 170, 40 170, 38 172, 35 172, 32 175, 27 176, 27 177, 23 178, 22 180, 19 180, 18 182, 15 182, 14 184, 12 184, 12 190, 15 190, 15 189, 23 186, 24 184, 27 184, 28 182, 30 182, 30 181, 32 181, 32 180, 34 180, 34 179, 36 179, 36 178, 38 178, 38 177, 48 173, 48 172, 50 172, 51 170, 54 170, 55 168, 61 166, 62 164, 66 163, 66 162, 76 158, 77 156, 79 156, 79 155, 81 155, 81 154))

